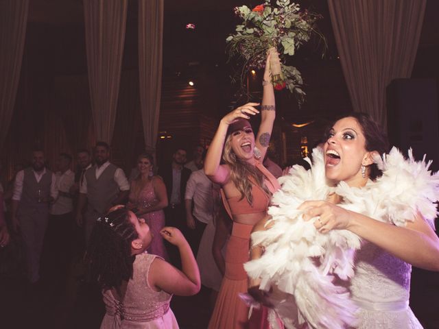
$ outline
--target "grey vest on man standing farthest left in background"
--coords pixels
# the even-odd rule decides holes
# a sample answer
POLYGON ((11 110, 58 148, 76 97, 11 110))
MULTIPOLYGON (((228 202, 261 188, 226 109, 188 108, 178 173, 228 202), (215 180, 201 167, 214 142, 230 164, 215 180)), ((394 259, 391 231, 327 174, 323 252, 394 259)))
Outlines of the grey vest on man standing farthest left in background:
POLYGON ((38 202, 38 199, 50 196, 50 187, 52 184, 52 172, 46 169, 45 174, 36 181, 34 170, 27 168, 24 170, 23 192, 19 203, 17 215, 48 215, 49 202, 38 202))

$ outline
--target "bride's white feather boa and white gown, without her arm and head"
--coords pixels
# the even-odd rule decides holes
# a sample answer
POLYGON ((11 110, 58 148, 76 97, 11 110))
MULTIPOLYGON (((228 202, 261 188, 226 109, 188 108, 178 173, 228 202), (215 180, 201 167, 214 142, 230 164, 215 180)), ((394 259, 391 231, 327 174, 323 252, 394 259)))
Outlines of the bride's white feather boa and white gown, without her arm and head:
POLYGON ((311 328, 422 328, 409 307, 411 265, 348 230, 321 234, 316 219, 304 221, 297 210, 336 193, 343 199, 338 206, 377 221, 404 227, 420 212, 434 227, 439 173, 431 173, 425 160, 416 162, 411 151, 405 159, 392 149, 378 164, 383 176, 363 188, 344 182, 331 187, 315 149, 309 171, 295 167, 279 179, 283 186, 268 212, 272 226, 251 236, 265 252, 244 265, 248 276, 261 279, 260 289, 280 291, 269 312, 273 328, 276 319, 287 329, 305 322, 311 328))

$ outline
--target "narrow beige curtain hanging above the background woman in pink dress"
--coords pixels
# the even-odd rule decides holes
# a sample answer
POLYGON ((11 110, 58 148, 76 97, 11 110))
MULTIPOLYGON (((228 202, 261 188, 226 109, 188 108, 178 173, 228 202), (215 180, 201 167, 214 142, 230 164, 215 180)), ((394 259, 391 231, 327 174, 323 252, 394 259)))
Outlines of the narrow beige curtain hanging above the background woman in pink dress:
POLYGON ((139 0, 139 88, 145 149, 155 152, 162 84, 163 0, 139 0))

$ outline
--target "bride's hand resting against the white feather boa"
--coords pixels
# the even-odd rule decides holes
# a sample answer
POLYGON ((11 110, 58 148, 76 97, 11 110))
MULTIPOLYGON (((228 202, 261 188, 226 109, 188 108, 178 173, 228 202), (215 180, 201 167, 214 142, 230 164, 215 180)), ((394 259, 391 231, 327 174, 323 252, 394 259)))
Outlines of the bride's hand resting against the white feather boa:
POLYGON ((330 202, 305 201, 298 207, 298 210, 305 210, 303 212, 305 221, 317 217, 314 226, 321 233, 327 233, 330 230, 348 230, 350 225, 349 210, 330 202))

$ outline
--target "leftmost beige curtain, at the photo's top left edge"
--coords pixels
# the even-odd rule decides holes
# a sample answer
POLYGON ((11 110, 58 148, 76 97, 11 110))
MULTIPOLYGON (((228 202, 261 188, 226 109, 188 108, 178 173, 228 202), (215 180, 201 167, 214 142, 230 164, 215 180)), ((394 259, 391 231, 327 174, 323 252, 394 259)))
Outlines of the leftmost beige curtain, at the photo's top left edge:
POLYGON ((14 111, 25 44, 29 0, 0 1, 0 149, 14 111))

